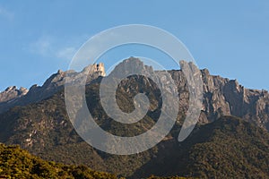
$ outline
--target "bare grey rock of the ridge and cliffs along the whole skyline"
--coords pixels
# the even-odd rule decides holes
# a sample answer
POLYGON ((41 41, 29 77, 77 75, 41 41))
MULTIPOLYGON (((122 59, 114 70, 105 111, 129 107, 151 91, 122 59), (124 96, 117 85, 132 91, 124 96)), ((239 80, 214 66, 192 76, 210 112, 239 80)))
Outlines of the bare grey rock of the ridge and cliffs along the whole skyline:
MULTIPOLYGON (((130 58, 136 66, 143 65, 139 59, 130 58)), ((128 60, 130 60, 128 59, 128 60)), ((193 69, 197 69, 194 64, 193 69)), ((124 66, 124 65, 123 65, 124 66)), ((93 64, 94 70, 89 74, 88 83, 99 76, 105 76, 103 64, 93 64)), ((88 67, 88 68, 89 68, 88 67)), ((120 67, 121 68, 121 67, 120 67)), ((122 69, 117 67, 116 72, 122 69)), ((84 69, 86 71, 87 68, 84 69)), ((149 68, 148 70, 152 70, 149 68)), ((269 130, 269 93, 266 90, 248 90, 239 85, 236 80, 229 80, 221 76, 214 76, 207 69, 201 70, 204 81, 204 101, 199 121, 202 123, 213 122, 221 115, 235 115, 246 121, 269 130)), ((169 71, 172 79, 178 86, 180 99, 179 111, 181 114, 187 112, 188 88, 187 80, 180 70, 169 71)), ((44 98, 51 97, 65 85, 66 72, 58 71, 53 74, 41 86, 33 85, 30 90, 9 87, 0 93, 0 114, 15 106, 25 106, 39 102, 44 98)), ((74 72, 79 75, 79 72, 74 72)))

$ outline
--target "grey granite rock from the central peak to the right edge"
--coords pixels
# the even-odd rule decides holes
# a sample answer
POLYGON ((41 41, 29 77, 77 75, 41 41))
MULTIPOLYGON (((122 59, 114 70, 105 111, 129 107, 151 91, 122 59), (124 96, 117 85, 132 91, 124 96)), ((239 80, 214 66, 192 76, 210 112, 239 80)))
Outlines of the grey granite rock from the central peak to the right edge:
MULTIPOLYGON (((133 73, 133 71, 135 71, 134 68, 139 69, 142 68, 141 66, 143 65, 143 62, 141 62, 139 59, 131 57, 126 59, 123 64, 117 65, 114 71, 116 74, 113 75, 120 76, 120 74, 123 72, 133 73), (130 63, 133 68, 130 68, 130 64, 127 63, 130 63)), ((246 89, 236 80, 211 75, 207 69, 200 70, 199 72, 193 63, 183 61, 180 62, 180 65, 189 65, 189 69, 193 74, 202 76, 204 98, 199 123, 207 124, 224 115, 235 115, 245 119, 247 122, 256 124, 257 126, 265 128, 269 131, 269 93, 267 91, 246 89)), ((153 72, 151 66, 144 65, 143 69, 145 72, 153 72)), ((185 73, 182 70, 171 70, 168 72, 178 87, 178 122, 182 122, 187 115, 187 110, 189 109, 190 105, 190 89, 188 87, 188 81, 185 73)), ((163 73, 164 72, 162 71, 155 72, 157 75, 162 75, 163 73)), ((164 81, 161 81, 160 83, 163 82, 164 81)), ((141 84, 146 85, 149 83, 142 82, 141 84)), ((124 82, 121 85, 124 86, 126 90, 131 88, 128 87, 127 82, 124 82)), ((152 86, 152 88, 156 90, 156 86, 152 86)), ((166 90, 170 91, 170 89, 166 90)), ((156 95, 156 97, 157 96, 158 95, 156 95)), ((155 102, 157 103, 157 101, 155 102)))

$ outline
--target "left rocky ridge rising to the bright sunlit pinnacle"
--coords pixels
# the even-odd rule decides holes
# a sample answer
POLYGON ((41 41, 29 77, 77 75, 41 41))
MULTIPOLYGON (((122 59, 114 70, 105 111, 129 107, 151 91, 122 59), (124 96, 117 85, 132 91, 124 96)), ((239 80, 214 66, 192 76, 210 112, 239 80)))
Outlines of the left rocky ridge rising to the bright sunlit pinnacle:
MULTIPOLYGON (((87 82, 91 82, 106 74, 104 64, 102 63, 89 65, 82 72, 67 72, 72 73, 76 78, 80 78, 80 75, 84 74, 83 72, 89 68, 91 68, 91 71, 87 74, 87 82)), ((55 74, 52 74, 42 86, 35 84, 30 87, 30 90, 25 88, 17 90, 16 87, 7 88, 0 93, 0 114, 15 106, 25 106, 30 103, 39 102, 44 98, 51 97, 57 91, 63 90, 67 72, 59 70, 55 74)))

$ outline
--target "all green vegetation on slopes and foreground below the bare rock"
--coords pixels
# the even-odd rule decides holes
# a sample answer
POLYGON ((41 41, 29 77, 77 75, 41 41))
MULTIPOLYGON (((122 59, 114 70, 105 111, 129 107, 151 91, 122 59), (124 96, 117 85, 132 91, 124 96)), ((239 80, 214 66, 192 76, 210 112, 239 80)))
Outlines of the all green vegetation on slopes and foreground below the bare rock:
MULTIPOLYGON (((140 81, 143 82, 146 81, 140 81)), ((128 111, 133 107, 132 97, 137 92, 135 90, 139 90, 133 85, 134 88, 131 88, 126 83, 119 89, 133 89, 130 93, 117 93, 118 106, 123 110, 128 111)), ((131 125, 118 124, 108 118, 100 106, 98 83, 87 86, 86 98, 91 115, 98 119, 96 122, 104 130, 119 136, 134 136, 151 128, 160 115, 161 103, 154 99, 159 95, 158 90, 144 91, 152 96, 151 110, 141 122, 131 125)), ((177 141, 180 130, 180 124, 177 124, 167 139, 158 146, 130 156, 109 155, 82 141, 66 115, 63 91, 39 103, 14 107, 0 115, 0 123, 1 142, 18 144, 22 149, 39 156, 31 157, 22 149, 2 145, 1 156, 5 157, 1 157, 1 175, 19 177, 22 173, 26 178, 30 175, 72 178, 81 173, 87 177, 94 173, 108 175, 92 171, 95 170, 134 179, 151 175, 164 178, 169 175, 269 178, 269 133, 234 116, 221 117, 211 124, 197 125, 187 141, 181 143, 177 141), (8 154, 7 151, 14 153, 8 154), (23 158, 20 152, 27 157, 23 158), (20 159, 17 159, 18 156, 21 156, 20 159), (40 158, 68 166, 45 162, 40 158)))

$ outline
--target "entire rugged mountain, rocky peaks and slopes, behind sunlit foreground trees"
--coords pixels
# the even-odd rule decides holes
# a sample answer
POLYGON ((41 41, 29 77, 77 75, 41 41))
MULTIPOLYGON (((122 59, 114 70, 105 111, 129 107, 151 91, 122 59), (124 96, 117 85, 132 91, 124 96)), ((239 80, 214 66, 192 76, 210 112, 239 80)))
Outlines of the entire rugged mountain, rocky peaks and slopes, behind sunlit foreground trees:
MULTIPOLYGON (((130 61, 132 61, 134 68, 143 67, 141 61, 130 58, 122 64, 118 64, 115 72, 121 72, 125 63, 130 61)), ((188 65, 192 65, 192 69, 198 71, 194 64, 190 63, 188 65)), ((92 66, 88 68, 92 68, 92 66)), ((89 70, 88 68, 85 68, 84 71, 89 70)), ((144 68, 152 70, 149 67, 144 68)), ((132 112, 134 110, 133 99, 137 92, 145 92, 150 97, 151 102, 149 112, 142 122, 121 125, 110 119, 100 105, 99 88, 100 80, 103 78, 100 76, 104 75, 104 69, 101 68, 100 70, 100 68, 95 67, 94 69, 96 70, 93 70, 88 77, 86 98, 89 110, 96 122, 103 129, 119 136, 134 136, 150 129, 160 116, 161 94, 156 84, 143 76, 135 75, 119 84, 117 103, 123 111, 132 112)), ((179 148, 176 140, 178 128, 180 129, 180 124, 184 120, 188 105, 187 80, 183 72, 179 70, 169 71, 178 86, 180 99, 176 128, 157 147, 141 154, 132 156, 108 155, 91 148, 82 141, 66 115, 63 91, 66 72, 61 71, 53 74, 42 87, 32 87, 28 93, 21 96, 17 95, 19 93, 14 93, 15 95, 9 95, 9 98, 7 98, 10 90, 1 93, 0 97, 3 98, 3 102, 0 103, 0 111, 2 112, 0 114, 0 141, 6 144, 19 144, 22 148, 30 150, 31 153, 48 160, 56 160, 67 164, 85 164, 96 170, 133 176, 134 178, 151 174, 196 177, 202 175, 207 177, 220 176, 221 174, 216 173, 219 167, 216 166, 216 162, 221 161, 225 161, 225 165, 227 164, 229 167, 221 166, 222 169, 219 170, 222 173, 230 173, 230 175, 222 175, 223 177, 231 177, 233 174, 246 177, 245 173, 247 171, 248 175, 250 175, 249 171, 255 171, 251 172, 253 173, 251 175, 256 178, 269 175, 267 170, 269 158, 268 132, 259 128, 269 130, 268 92, 247 90, 240 86, 237 81, 210 75, 206 69, 201 72, 204 81, 204 105, 200 115, 200 124, 204 125, 200 126, 198 124, 192 136, 190 136, 189 139, 195 139, 194 141, 183 142, 179 148), (7 100, 4 100, 4 98, 7 98, 7 100), (242 117, 245 121, 256 126, 234 117, 225 118, 224 115, 242 117), (240 138, 240 141, 237 141, 237 138, 240 138), (205 152, 203 158, 197 158, 200 163, 195 163, 195 151, 188 152, 192 149, 200 149, 196 143, 204 149, 201 152, 205 152), (207 146, 208 143, 212 143, 212 145, 207 146), (222 143, 222 147, 218 148, 220 143, 222 143), (232 143, 235 149, 230 148, 229 143, 232 143), (225 147, 224 144, 227 146, 225 147), (224 148, 229 149, 230 154, 224 152, 224 156, 219 156, 221 149, 224 148), (206 153, 206 150, 211 152, 206 153), (252 153, 248 157, 247 153, 244 153, 245 151, 247 153, 256 151, 257 153, 252 153), (235 153, 236 155, 234 155, 235 153), (229 158, 226 158, 227 156, 229 158), (217 161, 215 157, 221 159, 221 161, 217 161), (237 158, 235 162, 231 161, 235 158, 237 158), (262 164, 259 164, 259 158, 263 159, 262 164), (192 163, 186 166, 184 162, 187 161, 192 163), (203 174, 196 174, 197 171, 203 174)), ((79 72, 71 73, 79 78, 79 72)))

